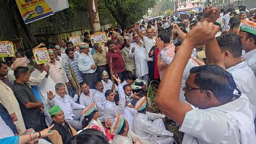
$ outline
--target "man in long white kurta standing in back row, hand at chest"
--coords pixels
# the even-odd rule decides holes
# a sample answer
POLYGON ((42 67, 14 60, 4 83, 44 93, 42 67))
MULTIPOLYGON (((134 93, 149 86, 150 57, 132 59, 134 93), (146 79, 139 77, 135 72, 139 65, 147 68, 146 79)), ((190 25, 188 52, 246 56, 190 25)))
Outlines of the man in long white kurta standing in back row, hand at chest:
MULTIPOLYGON (((134 38, 139 38, 139 36, 137 36, 138 35, 135 34, 134 38)), ((147 53, 142 41, 137 40, 136 43, 131 44, 129 56, 131 58, 134 57, 138 78, 145 80, 145 82, 148 82, 147 53)))

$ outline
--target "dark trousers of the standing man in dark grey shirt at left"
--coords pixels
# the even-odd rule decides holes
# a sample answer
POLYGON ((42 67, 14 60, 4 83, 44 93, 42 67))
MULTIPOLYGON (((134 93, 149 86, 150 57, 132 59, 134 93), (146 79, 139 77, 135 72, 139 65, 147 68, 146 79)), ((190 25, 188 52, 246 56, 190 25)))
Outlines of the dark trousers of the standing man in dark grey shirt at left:
POLYGON ((24 119, 24 123, 26 129, 34 129, 36 132, 40 132, 43 129, 46 129, 47 126, 45 124, 45 115, 38 111, 38 118, 33 121, 26 121, 24 119))

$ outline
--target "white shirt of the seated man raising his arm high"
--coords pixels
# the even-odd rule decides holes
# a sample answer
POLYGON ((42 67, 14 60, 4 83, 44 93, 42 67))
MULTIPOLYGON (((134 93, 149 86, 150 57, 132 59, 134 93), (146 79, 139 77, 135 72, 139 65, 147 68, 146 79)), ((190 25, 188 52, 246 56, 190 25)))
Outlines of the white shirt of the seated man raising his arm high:
POLYGON ((121 85, 118 85, 118 93, 119 93, 119 105, 117 106, 114 101, 106 100, 105 106, 104 106, 104 119, 110 119, 112 122, 116 118, 116 116, 120 113, 124 113, 124 109, 126 107, 126 98, 124 94, 124 90, 122 89, 121 85))

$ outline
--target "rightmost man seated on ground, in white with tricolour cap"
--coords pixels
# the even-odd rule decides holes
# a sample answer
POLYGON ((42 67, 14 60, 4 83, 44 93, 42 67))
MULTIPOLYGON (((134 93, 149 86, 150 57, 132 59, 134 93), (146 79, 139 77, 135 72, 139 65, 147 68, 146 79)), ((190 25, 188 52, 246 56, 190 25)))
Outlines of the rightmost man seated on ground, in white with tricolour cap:
POLYGON ((140 98, 135 105, 134 132, 151 143, 171 144, 174 142, 173 133, 164 128, 163 114, 147 112, 147 100, 140 98), (152 122, 153 121, 153 122, 152 122))

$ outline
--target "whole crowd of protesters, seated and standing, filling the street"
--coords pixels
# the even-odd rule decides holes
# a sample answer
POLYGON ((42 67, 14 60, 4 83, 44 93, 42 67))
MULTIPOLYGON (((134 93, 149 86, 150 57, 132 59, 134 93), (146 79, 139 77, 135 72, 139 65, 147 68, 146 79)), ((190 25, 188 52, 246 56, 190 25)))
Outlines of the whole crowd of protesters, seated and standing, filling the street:
POLYGON ((256 143, 256 12, 206 7, 187 19, 109 28, 108 42, 32 49, 0 61, 0 143, 256 143), (244 23, 244 24, 241 24, 244 23), (146 91, 160 82, 148 111, 146 91))

